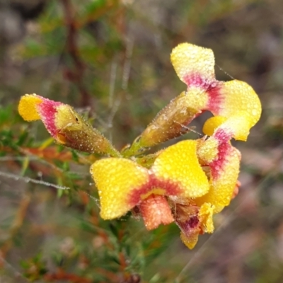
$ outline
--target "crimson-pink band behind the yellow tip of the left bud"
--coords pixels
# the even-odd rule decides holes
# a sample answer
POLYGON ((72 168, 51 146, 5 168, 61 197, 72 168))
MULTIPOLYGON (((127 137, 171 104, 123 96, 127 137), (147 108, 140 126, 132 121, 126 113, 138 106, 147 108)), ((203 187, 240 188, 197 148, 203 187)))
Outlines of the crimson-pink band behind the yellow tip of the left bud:
POLYGON ((58 132, 58 129, 55 126, 55 115, 57 113, 57 107, 59 105, 63 105, 63 103, 47 98, 42 98, 42 100, 42 103, 36 105, 36 108, 47 131, 50 132, 52 137, 54 137, 58 132))

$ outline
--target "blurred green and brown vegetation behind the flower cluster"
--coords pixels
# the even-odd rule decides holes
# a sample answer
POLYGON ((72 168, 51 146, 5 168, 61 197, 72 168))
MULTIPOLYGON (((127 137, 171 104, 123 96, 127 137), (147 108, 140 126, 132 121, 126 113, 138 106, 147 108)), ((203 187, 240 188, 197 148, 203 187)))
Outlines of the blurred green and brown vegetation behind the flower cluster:
POLYGON ((282 50, 280 0, 0 0, 0 282, 283 282, 282 50), (185 90, 180 42, 214 50, 217 79, 247 81, 263 106, 235 143, 238 197, 194 250, 174 224, 102 221, 96 156, 17 113, 25 93, 60 100, 121 149, 185 90))

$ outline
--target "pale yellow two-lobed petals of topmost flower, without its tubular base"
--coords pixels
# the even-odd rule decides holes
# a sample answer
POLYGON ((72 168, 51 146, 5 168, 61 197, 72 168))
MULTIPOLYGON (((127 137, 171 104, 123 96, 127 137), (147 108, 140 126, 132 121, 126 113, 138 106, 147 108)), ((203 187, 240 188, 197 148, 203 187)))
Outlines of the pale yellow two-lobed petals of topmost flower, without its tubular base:
POLYGON ((246 141, 250 128, 260 119, 260 100, 243 81, 217 81, 212 50, 183 43, 171 53, 171 61, 181 81, 187 84, 187 99, 205 100, 202 110, 211 111, 233 127, 233 138, 246 141), (205 99, 202 98, 205 96, 205 99))

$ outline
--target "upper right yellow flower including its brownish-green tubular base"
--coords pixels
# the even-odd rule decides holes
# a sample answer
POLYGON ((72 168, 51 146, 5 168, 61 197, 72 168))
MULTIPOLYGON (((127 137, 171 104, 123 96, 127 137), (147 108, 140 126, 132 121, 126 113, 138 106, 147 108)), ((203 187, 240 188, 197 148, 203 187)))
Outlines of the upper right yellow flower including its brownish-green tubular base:
MULTIPOLYGON (((246 141, 250 128, 260 119, 261 105, 253 88, 243 81, 217 81, 212 50, 182 43, 171 53, 171 62, 187 91, 158 113, 138 140, 150 147, 178 137, 195 117, 208 110, 233 126, 233 138, 246 141)), ((137 146, 136 146, 137 147, 137 146)))

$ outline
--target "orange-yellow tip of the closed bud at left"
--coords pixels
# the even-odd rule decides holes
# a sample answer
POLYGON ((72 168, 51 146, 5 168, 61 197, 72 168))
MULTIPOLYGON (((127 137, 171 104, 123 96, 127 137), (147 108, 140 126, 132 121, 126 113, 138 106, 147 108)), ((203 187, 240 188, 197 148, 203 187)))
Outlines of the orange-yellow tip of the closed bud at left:
POLYGON ((25 121, 40 120, 36 105, 42 103, 42 98, 36 94, 25 94, 18 104, 18 112, 25 121))

